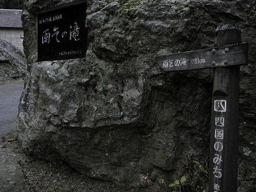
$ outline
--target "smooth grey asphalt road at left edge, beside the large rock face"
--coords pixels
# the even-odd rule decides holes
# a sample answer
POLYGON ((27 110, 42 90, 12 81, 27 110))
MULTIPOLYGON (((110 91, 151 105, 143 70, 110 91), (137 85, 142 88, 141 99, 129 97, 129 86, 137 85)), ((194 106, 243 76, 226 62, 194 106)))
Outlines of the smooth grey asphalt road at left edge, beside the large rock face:
POLYGON ((15 128, 18 103, 24 83, 0 84, 0 142, 15 128))

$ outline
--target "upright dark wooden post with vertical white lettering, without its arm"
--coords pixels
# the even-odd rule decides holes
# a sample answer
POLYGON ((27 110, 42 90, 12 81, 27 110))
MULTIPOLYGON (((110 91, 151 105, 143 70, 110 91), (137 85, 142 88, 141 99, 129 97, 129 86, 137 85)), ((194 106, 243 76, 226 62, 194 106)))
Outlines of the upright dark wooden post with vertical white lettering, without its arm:
MULTIPOLYGON (((216 46, 240 42, 241 31, 238 26, 225 25, 217 28, 216 46)), ((228 60, 223 62, 228 65, 228 60)), ((239 71, 239 66, 214 70, 209 192, 237 191, 239 71)))

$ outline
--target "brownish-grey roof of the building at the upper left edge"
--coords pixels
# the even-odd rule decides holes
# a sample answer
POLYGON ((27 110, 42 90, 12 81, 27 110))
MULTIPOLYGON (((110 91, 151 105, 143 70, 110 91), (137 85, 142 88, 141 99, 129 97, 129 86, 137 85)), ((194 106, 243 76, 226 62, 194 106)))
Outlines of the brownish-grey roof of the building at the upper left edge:
POLYGON ((22 28, 22 10, 0 9, 0 28, 22 28))

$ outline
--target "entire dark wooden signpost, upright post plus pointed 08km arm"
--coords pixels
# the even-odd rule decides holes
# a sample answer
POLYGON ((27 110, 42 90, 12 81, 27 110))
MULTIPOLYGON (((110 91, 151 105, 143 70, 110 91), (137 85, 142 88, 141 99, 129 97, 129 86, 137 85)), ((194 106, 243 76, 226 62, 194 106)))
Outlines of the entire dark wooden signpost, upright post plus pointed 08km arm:
POLYGON ((237 25, 216 29, 216 47, 157 57, 166 72, 214 68, 209 192, 236 192, 240 65, 247 64, 247 44, 237 25))

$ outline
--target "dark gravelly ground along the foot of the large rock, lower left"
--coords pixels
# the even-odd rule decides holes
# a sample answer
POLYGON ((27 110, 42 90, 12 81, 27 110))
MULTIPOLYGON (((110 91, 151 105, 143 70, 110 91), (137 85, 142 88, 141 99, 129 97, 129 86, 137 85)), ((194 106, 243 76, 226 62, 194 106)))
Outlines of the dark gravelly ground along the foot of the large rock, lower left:
POLYGON ((92 180, 87 176, 79 174, 64 162, 52 164, 27 156, 23 153, 17 142, 16 131, 10 132, 3 138, 3 141, 5 147, 12 150, 18 156, 19 164, 30 192, 144 192, 141 189, 128 189, 116 186, 110 182, 92 180))

